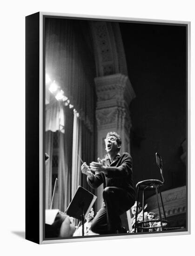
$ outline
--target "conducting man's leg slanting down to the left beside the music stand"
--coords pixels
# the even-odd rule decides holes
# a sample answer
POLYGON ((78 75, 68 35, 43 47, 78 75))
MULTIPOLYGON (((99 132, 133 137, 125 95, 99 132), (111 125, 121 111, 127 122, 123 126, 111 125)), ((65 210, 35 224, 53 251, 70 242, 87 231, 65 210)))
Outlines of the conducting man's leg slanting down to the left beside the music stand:
POLYGON ((105 206, 102 206, 94 217, 91 231, 100 235, 108 234, 107 210, 105 206))

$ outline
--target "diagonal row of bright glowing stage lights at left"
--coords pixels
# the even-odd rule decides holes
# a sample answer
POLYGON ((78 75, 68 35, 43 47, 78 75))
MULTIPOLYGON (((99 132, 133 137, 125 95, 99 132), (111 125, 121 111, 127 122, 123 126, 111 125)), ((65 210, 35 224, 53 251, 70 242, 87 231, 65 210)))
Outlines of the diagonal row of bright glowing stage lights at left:
MULTIPOLYGON (((56 83, 55 80, 52 82, 48 74, 45 75, 45 82, 48 86, 49 91, 54 94, 57 101, 63 101, 65 106, 69 105, 69 108, 74 107, 74 105, 70 104, 70 100, 68 100, 61 87, 56 83)), ((76 111, 75 108, 74 111, 76 111)))

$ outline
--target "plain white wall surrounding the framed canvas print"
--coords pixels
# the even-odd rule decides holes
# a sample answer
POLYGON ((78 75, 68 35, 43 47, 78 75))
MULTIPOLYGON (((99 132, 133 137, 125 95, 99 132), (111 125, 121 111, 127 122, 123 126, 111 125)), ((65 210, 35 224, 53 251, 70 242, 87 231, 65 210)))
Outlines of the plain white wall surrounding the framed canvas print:
MULTIPOLYGON (((25 16, 38 11, 83 13, 192 22, 192 74, 195 67, 195 15, 186 0, 34 0, 2 1, 0 15, 1 71, 1 250, 2 255, 136 255, 136 248, 155 255, 192 255, 195 241, 195 188, 192 187, 192 235, 36 245, 14 232, 25 230, 25 16), (11 115, 12 114, 12 115, 11 115), (152 245, 151 245, 152 243, 152 245), (162 249, 161 249, 162 247, 162 249), (92 250, 92 252, 91 252, 92 250)), ((194 84, 194 75, 191 85, 194 84)), ((195 130, 194 88, 191 86, 191 130, 195 130)), ((191 135, 194 153, 194 134, 191 135)), ((191 180, 195 180, 192 157, 191 180)), ((22 233, 23 234, 23 233, 22 233)))

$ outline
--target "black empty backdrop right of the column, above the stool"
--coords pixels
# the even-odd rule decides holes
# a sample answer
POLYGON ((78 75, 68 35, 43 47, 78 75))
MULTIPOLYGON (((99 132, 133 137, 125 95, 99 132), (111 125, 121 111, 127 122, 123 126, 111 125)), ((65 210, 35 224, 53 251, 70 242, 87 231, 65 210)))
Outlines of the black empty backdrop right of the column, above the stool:
POLYGON ((132 117, 131 155, 134 183, 159 179, 155 152, 164 163, 162 190, 186 184, 180 159, 186 134, 186 28, 120 23, 128 75, 136 98, 132 117))

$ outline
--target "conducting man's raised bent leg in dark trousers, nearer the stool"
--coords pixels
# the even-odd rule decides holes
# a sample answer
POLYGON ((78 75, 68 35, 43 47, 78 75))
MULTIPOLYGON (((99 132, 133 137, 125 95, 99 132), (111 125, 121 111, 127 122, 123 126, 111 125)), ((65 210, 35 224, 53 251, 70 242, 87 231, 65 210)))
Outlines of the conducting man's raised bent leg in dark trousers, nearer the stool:
POLYGON ((134 197, 127 191, 117 187, 106 187, 103 198, 107 209, 108 231, 115 233, 121 229, 120 215, 134 205, 134 197))

